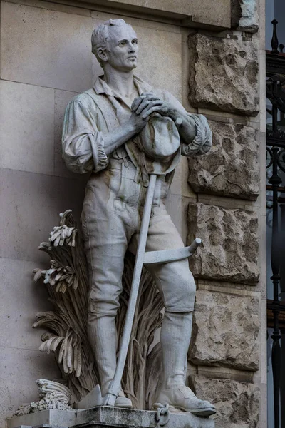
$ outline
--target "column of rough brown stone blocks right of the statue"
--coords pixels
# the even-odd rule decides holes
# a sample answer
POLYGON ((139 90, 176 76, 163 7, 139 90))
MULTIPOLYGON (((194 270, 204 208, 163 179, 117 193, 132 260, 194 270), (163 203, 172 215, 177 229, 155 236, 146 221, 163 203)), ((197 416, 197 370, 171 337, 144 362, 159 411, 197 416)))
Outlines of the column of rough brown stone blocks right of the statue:
POLYGON ((264 16, 232 1, 232 31, 189 37, 192 111, 213 148, 189 160, 188 243, 197 282, 189 382, 217 405, 217 427, 266 427, 264 16), (257 26, 259 26, 259 32, 257 26))

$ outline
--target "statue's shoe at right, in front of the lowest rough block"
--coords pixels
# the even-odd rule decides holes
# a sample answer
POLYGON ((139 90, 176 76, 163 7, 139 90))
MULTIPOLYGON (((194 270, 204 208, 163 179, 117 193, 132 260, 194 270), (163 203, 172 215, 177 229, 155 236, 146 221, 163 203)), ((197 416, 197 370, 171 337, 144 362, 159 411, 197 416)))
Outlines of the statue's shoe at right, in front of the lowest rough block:
POLYGON ((191 412, 200 417, 208 417, 217 412, 216 407, 207 401, 198 399, 194 392, 185 385, 171 389, 162 389, 156 401, 161 404, 169 404, 170 407, 175 407, 184 412, 191 412))

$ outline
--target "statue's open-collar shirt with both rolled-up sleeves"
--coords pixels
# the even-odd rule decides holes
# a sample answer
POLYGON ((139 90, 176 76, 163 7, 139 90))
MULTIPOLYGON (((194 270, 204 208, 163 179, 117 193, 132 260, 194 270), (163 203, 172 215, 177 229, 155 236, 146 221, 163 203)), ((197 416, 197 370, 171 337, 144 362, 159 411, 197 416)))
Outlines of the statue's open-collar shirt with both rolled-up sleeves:
MULTIPOLYGON (((185 108, 167 91, 153 89, 138 76, 133 76, 139 95, 145 92, 155 93, 186 113, 185 108)), ((76 173, 98 172, 107 167, 109 159, 105 154, 104 136, 123 125, 130 118, 130 105, 100 76, 93 88, 73 98, 66 107, 63 123, 63 158, 70 170, 76 173)), ((207 120, 202 115, 195 117, 197 136, 193 141, 182 143, 182 155, 193 156, 209 151, 212 133, 207 120)), ((120 146, 110 158, 127 158, 125 147, 120 146)))

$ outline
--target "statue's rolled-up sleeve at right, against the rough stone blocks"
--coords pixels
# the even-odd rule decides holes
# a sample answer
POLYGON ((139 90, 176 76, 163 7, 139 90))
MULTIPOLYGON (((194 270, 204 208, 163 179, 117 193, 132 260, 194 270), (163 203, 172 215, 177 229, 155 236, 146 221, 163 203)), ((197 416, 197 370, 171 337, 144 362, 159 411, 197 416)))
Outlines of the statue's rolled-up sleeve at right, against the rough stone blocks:
POLYGON ((196 156, 207 153, 212 147, 212 131, 209 128, 207 118, 202 114, 187 113, 195 121, 196 135, 189 143, 182 143, 181 153, 183 156, 196 156))

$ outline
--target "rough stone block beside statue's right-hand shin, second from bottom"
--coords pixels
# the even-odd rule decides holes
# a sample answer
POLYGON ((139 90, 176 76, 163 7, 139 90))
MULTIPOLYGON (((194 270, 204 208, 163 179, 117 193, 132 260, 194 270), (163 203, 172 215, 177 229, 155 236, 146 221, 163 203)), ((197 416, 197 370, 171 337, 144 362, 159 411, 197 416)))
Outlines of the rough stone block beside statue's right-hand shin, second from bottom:
POLYGON ((259 300, 197 290, 190 360, 197 365, 259 369, 259 300))

